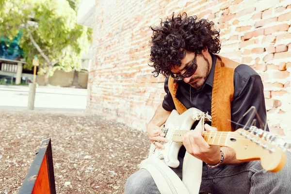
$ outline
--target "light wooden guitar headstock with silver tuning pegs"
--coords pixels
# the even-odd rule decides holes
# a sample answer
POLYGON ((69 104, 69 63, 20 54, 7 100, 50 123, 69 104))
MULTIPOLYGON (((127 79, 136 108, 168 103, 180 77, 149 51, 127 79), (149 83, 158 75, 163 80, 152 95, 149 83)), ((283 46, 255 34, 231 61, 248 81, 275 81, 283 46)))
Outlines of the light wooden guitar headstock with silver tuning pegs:
POLYGON ((260 160, 263 169, 270 172, 283 168, 286 163, 285 150, 291 148, 282 138, 256 127, 251 127, 249 131, 237 129, 231 132, 226 146, 235 150, 237 160, 260 160))

